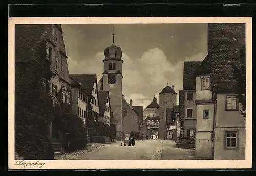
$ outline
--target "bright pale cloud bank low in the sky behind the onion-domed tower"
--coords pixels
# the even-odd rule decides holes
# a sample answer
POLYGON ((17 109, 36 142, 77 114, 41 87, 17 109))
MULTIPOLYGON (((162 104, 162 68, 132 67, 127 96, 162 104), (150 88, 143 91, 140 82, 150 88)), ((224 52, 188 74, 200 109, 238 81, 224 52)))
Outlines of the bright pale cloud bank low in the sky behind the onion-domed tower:
MULTIPOLYGON (((174 85, 179 94, 183 84, 183 61, 202 61, 203 53, 189 58, 182 58, 180 62, 170 63, 164 52, 159 48, 148 49, 139 58, 130 58, 123 53, 123 94, 127 102, 133 100, 133 105, 143 106, 151 103, 153 97, 159 103, 159 93, 167 86, 174 85)), ((98 52, 93 57, 83 58, 80 62, 68 58, 69 72, 72 74, 96 73, 97 79, 102 77, 104 54, 98 52)), ((177 95, 177 104, 179 104, 177 95)))

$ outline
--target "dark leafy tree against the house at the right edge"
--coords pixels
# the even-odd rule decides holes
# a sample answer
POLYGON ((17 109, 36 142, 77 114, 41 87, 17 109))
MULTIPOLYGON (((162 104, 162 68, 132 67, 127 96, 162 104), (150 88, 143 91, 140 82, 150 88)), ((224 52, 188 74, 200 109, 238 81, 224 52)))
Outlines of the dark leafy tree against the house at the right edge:
POLYGON ((239 64, 232 64, 233 75, 237 80, 236 86, 234 88, 234 93, 237 94, 238 102, 242 105, 240 113, 243 117, 246 116, 246 66, 245 66, 245 45, 240 49, 239 64))

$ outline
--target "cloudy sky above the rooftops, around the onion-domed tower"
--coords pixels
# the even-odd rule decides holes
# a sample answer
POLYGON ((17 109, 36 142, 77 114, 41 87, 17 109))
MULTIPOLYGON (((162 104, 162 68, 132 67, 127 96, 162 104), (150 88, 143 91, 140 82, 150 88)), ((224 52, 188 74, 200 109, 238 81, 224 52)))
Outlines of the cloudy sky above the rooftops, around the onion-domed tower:
MULTIPOLYGON (((207 24, 115 24, 115 44, 123 52, 123 94, 143 109, 160 91, 182 89, 183 62, 207 55, 207 24)), ((69 73, 102 77, 104 49, 113 24, 62 24, 69 73)), ((177 102, 179 103, 178 96, 177 102)))

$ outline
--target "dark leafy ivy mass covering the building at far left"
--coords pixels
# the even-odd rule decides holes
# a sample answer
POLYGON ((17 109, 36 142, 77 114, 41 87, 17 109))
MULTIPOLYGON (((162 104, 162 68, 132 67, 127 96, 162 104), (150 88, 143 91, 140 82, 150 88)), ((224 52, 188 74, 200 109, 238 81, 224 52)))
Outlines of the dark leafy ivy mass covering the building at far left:
MULTIPOLYGON (((15 65, 15 150, 25 159, 53 159, 49 125, 54 107, 48 93, 52 72, 44 55, 45 41, 32 51, 30 61, 15 65)), ((15 59, 18 59, 18 54, 15 53, 15 59)))

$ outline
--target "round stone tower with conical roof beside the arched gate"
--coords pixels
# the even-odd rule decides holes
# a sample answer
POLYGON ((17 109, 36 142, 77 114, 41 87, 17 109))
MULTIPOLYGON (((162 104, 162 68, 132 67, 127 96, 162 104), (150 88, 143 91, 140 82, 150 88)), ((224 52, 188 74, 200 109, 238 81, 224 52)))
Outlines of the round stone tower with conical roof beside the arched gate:
POLYGON ((167 86, 159 93, 159 139, 164 139, 166 135, 166 108, 173 108, 177 104, 177 93, 174 91, 174 86, 167 86))

